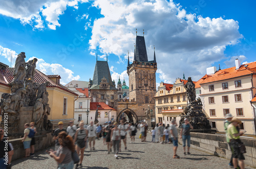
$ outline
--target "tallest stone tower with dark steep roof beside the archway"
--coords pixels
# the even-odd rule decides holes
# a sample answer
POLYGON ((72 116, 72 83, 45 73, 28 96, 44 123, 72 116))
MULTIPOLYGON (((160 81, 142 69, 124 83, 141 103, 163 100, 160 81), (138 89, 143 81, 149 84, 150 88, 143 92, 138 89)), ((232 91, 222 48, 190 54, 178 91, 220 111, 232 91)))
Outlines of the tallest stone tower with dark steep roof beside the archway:
MULTIPOLYGON (((127 74, 129 75, 129 99, 136 103, 150 105, 153 109, 156 93, 156 54, 154 60, 148 61, 144 36, 136 36, 134 61, 128 63, 127 74)), ((145 107, 146 108, 146 107, 145 107)), ((153 109, 154 110, 154 109, 153 109)))

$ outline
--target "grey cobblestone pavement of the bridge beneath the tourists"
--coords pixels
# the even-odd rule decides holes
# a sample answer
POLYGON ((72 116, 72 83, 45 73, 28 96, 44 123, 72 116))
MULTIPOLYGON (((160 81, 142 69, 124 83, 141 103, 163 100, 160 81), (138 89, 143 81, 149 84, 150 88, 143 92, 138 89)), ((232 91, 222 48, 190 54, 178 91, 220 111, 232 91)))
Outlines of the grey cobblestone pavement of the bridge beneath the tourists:
MULTIPOLYGON (((148 134, 147 141, 151 140, 148 134)), ((173 158, 172 144, 159 144, 150 142, 140 142, 135 139, 135 143, 130 144, 131 139, 127 139, 127 150, 119 152, 118 159, 114 154, 107 154, 103 140, 96 140, 94 151, 84 152, 84 159, 81 168, 229 168, 228 160, 211 154, 207 154, 195 149, 190 149, 191 155, 183 155, 182 146, 179 145, 177 154, 180 159, 173 158)), ((48 149, 49 150, 49 149, 48 149)), ((57 168, 57 164, 46 152, 40 151, 35 156, 21 158, 12 162, 13 169, 39 169, 57 168)), ((246 168, 252 168, 246 166, 246 168)))

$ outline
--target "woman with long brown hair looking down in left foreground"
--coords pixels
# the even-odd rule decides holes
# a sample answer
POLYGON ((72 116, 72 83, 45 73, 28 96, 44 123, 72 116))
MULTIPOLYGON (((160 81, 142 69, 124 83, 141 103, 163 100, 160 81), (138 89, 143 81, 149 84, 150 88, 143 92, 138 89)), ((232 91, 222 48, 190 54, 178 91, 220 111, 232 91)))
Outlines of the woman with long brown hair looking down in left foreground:
POLYGON ((50 157, 58 163, 58 169, 73 169, 72 152, 75 151, 73 138, 65 131, 61 131, 56 138, 60 146, 57 151, 48 151, 50 157))

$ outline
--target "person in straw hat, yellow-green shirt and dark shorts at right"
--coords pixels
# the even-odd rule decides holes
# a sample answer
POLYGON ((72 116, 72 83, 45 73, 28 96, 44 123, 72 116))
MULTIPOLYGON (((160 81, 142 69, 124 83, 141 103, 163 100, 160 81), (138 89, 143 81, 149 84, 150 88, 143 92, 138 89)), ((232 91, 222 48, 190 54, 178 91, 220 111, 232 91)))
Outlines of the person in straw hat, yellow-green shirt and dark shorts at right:
POLYGON ((242 143, 240 136, 243 135, 244 131, 238 131, 237 126, 242 124, 241 120, 238 118, 232 118, 230 124, 228 125, 227 132, 228 138, 230 139, 230 145, 233 150, 233 167, 238 167, 238 159, 239 165, 241 169, 244 169, 244 155, 241 153, 239 144, 242 143))

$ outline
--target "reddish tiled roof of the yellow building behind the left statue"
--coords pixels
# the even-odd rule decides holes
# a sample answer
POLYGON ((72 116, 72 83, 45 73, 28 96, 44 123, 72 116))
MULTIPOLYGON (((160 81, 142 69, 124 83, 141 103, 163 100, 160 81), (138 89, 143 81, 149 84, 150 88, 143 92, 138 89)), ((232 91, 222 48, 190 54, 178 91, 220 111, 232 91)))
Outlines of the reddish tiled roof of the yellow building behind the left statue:
MULTIPOLYGON (((3 85, 8 85, 8 83, 10 83, 13 80, 13 72, 14 72, 14 68, 4 68, 0 70, 0 83, 2 83, 3 85), (3 80, 4 79, 4 80, 3 80)), ((35 69, 35 76, 34 76, 34 80, 35 82, 38 83, 44 83, 46 81, 49 81, 50 84, 48 85, 49 87, 57 87, 59 89, 65 90, 75 96, 78 96, 75 92, 72 92, 71 90, 69 90, 68 88, 66 88, 63 85, 58 85, 57 83, 55 83, 54 81, 52 81, 49 77, 47 77, 47 75, 45 75, 44 73, 40 72, 39 70, 35 69)))

